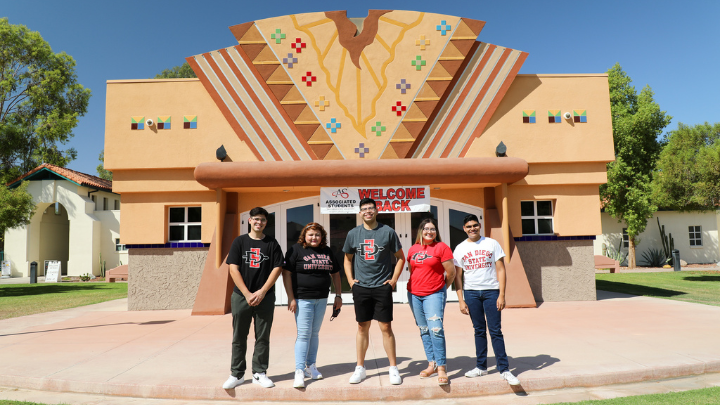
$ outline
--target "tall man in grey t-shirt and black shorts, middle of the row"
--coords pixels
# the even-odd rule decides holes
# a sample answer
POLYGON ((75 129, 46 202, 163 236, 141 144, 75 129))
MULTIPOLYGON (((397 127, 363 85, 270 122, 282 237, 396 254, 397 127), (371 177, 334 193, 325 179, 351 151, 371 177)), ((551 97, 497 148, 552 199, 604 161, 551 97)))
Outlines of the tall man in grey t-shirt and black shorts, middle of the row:
POLYGON ((390 383, 401 384, 402 378, 395 358, 395 335, 392 331, 393 299, 405 255, 395 230, 377 222, 377 204, 372 198, 360 200, 363 224, 352 229, 345 239, 345 275, 355 303, 358 322, 356 337, 357 366, 350 383, 357 384, 366 377, 365 353, 369 343, 370 323, 378 321, 383 334, 383 346, 390 362, 390 383), (392 267, 393 255, 397 258, 392 267), (353 276, 353 269, 355 275, 353 276))

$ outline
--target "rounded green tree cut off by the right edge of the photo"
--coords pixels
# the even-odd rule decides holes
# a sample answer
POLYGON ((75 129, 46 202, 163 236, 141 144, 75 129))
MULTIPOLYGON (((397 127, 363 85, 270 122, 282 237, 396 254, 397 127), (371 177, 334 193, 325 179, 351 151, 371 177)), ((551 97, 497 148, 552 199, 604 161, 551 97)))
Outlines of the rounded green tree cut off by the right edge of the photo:
POLYGON ((653 177, 655 204, 678 211, 720 208, 720 123, 678 124, 653 177))

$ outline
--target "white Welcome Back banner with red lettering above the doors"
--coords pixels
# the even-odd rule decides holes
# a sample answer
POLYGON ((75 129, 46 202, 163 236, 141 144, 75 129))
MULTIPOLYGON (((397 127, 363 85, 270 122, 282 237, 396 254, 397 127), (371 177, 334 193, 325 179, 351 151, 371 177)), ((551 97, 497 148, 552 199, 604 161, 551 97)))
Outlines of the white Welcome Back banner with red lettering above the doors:
POLYGON ((363 198, 372 198, 379 212, 430 212, 430 186, 322 187, 320 213, 357 214, 363 198))

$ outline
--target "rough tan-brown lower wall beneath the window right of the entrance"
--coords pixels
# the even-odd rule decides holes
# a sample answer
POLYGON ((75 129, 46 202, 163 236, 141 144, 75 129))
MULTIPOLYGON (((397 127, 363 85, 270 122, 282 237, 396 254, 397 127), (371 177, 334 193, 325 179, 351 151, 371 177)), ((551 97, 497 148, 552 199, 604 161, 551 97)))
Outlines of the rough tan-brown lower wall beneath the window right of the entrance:
POLYGON ((591 240, 515 242, 535 301, 594 301, 591 240))

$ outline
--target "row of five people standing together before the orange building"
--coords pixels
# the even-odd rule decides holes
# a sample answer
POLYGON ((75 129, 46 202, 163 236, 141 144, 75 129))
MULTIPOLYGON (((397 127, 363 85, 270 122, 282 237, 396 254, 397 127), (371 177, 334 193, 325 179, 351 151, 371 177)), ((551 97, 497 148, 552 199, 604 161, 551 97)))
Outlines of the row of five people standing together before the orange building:
MULTIPOLYGON (((397 385, 402 383, 402 378, 397 368, 392 330, 393 290, 405 265, 405 256, 395 230, 377 222, 376 202, 364 198, 359 205, 362 224, 348 233, 342 249, 345 254, 343 267, 352 291, 358 323, 357 365, 349 382, 357 384, 367 376, 365 355, 369 330, 372 320, 376 320, 390 364, 390 383, 397 385)), ((223 384, 225 389, 235 388, 244 381, 247 336, 253 321, 253 383, 266 388, 274 386, 266 371, 275 310, 274 285, 281 273, 288 294, 288 310, 295 314, 297 325, 294 387, 304 387, 305 377, 323 378, 316 360, 319 331, 331 283, 336 292, 333 309, 339 311, 342 307, 340 265, 327 246, 327 233, 323 227, 314 222, 307 224, 298 243, 288 249, 283 260, 278 242, 263 233, 267 218, 265 209, 253 208, 250 211, 249 233, 233 241, 227 257, 235 287, 231 297, 231 375, 223 384)), ((508 383, 517 385, 520 382, 509 370, 501 331, 500 313, 505 308, 505 253, 497 241, 480 236, 481 225, 477 216, 468 215, 463 222, 468 238, 454 252, 440 240, 437 225, 432 219, 421 222, 415 244, 408 252, 408 301, 428 361, 428 367, 420 373, 420 377, 437 374, 440 385, 448 384, 443 319, 447 289, 455 281, 460 311, 470 316, 475 330, 476 367, 465 376, 487 374, 488 328, 498 370, 508 383)))

